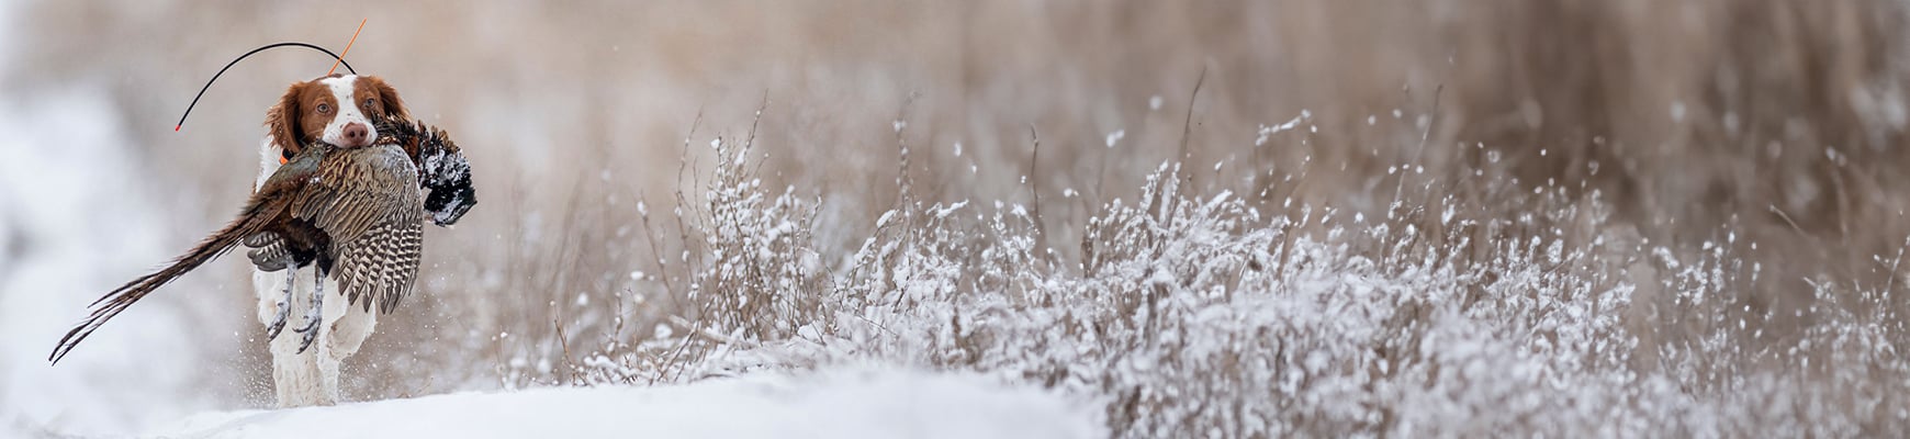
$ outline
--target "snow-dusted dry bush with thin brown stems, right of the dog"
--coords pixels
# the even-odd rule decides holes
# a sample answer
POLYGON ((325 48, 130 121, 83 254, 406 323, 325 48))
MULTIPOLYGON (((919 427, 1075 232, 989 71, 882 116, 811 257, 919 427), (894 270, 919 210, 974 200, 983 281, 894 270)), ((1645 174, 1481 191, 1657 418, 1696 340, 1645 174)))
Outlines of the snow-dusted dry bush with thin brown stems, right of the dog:
POLYGON ((678 195, 684 275, 649 279, 690 305, 581 355, 573 384, 978 370, 1100 405, 1119 437, 1870 435, 1910 408, 1885 391, 1910 363, 1881 292, 1814 281, 1816 324, 1772 340, 1730 294, 1761 281, 1746 242, 1654 244, 1597 189, 1402 176, 1368 218, 1194 193, 1169 162, 1070 260, 1035 208, 924 202, 903 178, 827 269, 816 202, 764 189, 751 147, 712 141, 703 197, 678 195))

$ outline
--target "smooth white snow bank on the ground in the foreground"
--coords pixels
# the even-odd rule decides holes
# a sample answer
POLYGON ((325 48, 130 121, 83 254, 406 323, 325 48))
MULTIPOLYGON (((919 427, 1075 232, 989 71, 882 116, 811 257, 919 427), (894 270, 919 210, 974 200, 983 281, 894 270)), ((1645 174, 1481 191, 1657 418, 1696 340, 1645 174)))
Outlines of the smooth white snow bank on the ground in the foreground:
POLYGON ((1089 405, 978 374, 846 366, 208 412, 160 437, 1106 437, 1089 405))

